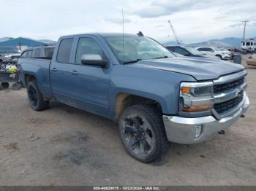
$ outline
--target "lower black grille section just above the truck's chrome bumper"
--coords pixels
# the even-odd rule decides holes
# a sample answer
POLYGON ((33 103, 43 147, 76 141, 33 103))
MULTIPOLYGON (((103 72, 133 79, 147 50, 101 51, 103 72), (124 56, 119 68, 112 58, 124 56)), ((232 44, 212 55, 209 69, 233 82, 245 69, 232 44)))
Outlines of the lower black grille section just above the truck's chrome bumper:
POLYGON ((243 100, 243 97, 244 97, 244 94, 236 98, 230 99, 229 101, 225 101, 219 104, 214 104, 214 109, 218 114, 227 112, 230 109, 233 109, 234 107, 236 107, 243 100))

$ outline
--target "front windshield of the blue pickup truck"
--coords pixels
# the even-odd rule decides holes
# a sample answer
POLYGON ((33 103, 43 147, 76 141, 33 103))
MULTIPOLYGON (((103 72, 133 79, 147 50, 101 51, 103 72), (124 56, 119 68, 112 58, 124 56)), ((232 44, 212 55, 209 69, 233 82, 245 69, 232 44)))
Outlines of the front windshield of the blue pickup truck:
POLYGON ((146 36, 105 37, 120 63, 175 57, 165 47, 146 36), (124 42, 124 43, 123 43, 124 42))

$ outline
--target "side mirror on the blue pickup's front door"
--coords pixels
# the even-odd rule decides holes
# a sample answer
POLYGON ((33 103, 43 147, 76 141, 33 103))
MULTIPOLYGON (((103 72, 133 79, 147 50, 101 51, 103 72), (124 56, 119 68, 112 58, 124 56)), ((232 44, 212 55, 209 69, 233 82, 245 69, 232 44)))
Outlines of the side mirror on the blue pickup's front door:
POLYGON ((102 68, 108 67, 108 60, 103 60, 102 57, 97 54, 82 55, 81 62, 84 65, 100 66, 102 68))

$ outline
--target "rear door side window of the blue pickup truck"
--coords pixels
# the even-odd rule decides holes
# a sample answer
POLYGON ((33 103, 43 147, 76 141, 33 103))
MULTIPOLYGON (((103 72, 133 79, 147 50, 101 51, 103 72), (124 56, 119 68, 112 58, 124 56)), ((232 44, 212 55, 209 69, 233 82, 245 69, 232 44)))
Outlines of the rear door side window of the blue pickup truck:
POLYGON ((57 55, 58 62, 69 63, 73 41, 74 41, 73 38, 61 40, 61 43, 59 44, 58 55, 57 55))

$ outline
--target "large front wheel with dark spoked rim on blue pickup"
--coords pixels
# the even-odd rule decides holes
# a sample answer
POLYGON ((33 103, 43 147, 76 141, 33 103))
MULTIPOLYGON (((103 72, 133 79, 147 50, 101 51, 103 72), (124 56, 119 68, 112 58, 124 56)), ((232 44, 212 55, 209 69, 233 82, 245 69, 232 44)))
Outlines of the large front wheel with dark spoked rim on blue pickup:
POLYGON ((154 106, 129 106, 121 114, 118 128, 122 144, 129 155, 142 163, 161 159, 169 148, 162 113, 154 106))

